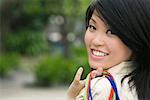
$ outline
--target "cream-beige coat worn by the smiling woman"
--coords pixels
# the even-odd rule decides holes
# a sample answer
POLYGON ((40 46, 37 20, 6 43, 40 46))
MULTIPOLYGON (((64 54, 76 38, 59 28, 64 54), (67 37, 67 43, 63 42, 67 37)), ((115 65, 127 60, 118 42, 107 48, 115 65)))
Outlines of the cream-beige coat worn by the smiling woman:
MULTIPOLYGON (((128 80, 126 78, 121 84, 121 79, 132 71, 131 62, 120 63, 108 70, 114 77, 117 85, 118 95, 120 100, 138 100, 135 88, 130 90, 128 80)), ((93 100, 108 100, 110 94, 111 84, 105 77, 97 77, 91 81, 91 90, 93 100)), ((76 100, 84 100, 84 89, 76 97, 76 100)))

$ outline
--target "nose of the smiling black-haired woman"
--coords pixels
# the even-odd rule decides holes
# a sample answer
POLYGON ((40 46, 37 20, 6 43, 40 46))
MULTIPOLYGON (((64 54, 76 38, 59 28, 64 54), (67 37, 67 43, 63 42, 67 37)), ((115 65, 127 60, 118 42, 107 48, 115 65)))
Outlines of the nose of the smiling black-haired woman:
POLYGON ((93 38, 93 41, 92 41, 93 45, 95 46, 103 46, 105 44, 104 42, 104 37, 101 36, 101 35, 96 35, 94 38, 93 38))

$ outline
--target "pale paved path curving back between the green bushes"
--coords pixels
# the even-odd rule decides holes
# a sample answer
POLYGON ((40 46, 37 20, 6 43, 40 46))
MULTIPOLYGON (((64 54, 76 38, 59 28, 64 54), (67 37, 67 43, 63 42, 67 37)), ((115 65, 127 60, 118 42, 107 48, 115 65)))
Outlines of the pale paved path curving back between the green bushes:
POLYGON ((66 100, 67 87, 24 87, 24 83, 32 81, 32 75, 23 72, 14 74, 10 79, 0 79, 0 100, 66 100))

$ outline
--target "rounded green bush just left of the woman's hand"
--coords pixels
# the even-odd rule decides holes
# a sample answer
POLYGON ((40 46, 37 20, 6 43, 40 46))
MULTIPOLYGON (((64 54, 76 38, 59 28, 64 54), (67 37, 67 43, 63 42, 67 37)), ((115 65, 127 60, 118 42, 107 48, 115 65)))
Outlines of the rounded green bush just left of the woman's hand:
POLYGON ((45 57, 35 70, 37 83, 45 86, 67 83, 72 76, 69 68, 72 62, 63 57, 45 57))

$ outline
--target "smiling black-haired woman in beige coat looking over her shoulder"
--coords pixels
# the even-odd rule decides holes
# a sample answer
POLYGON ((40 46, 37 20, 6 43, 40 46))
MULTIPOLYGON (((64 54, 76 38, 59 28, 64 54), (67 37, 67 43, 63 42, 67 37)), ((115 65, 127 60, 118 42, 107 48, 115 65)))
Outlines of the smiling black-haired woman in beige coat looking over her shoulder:
POLYGON ((85 44, 94 70, 85 83, 79 69, 68 90, 69 100, 150 99, 149 10, 150 0, 91 2, 85 44), (98 74, 102 76, 94 78, 98 74))

